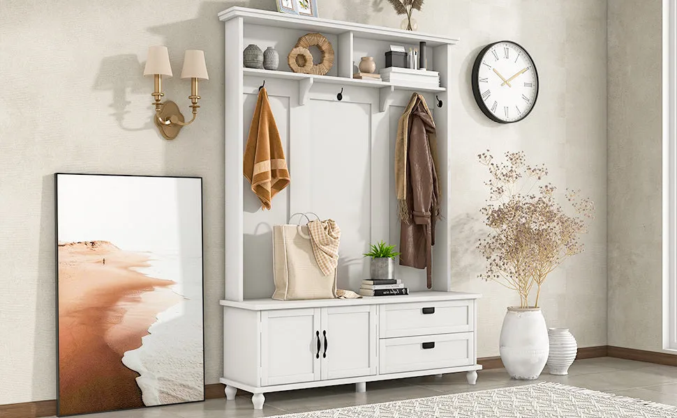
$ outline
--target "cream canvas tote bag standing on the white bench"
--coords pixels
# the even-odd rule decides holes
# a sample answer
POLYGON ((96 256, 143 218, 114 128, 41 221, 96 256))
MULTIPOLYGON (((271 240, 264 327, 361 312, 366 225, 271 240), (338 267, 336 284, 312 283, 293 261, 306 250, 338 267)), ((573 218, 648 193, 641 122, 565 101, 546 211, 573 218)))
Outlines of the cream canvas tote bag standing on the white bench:
POLYGON ((296 215, 300 215, 299 224, 273 226, 273 299, 334 299, 336 270, 329 276, 322 274, 313 254, 308 226, 300 224, 304 217, 308 221, 308 216, 294 214, 290 221, 296 215))

